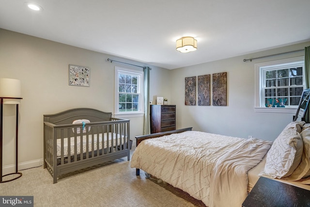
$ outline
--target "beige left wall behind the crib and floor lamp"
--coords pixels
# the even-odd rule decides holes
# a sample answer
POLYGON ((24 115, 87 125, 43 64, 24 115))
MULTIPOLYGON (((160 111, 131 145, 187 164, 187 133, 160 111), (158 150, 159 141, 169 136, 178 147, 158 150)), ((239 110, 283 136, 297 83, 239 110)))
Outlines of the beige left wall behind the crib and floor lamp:
MULTIPOLYGON (((43 114, 78 107, 114 111, 114 66, 142 68, 111 64, 108 58, 151 66, 151 97, 170 98, 167 69, 0 29, 0 78, 19 79, 22 85, 19 163, 43 159, 43 114), (90 87, 68 85, 69 64, 91 68, 90 87)), ((15 105, 4 105, 3 111, 3 166, 8 166, 15 163, 15 105)), ((143 117, 129 119, 131 139, 135 140, 135 136, 142 135, 143 117)))

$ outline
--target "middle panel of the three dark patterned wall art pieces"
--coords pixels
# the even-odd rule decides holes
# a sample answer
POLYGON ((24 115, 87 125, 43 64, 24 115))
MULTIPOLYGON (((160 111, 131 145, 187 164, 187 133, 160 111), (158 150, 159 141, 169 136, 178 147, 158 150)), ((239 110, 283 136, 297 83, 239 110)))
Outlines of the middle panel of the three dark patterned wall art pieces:
POLYGON ((198 106, 210 106, 210 74, 198 76, 198 106))

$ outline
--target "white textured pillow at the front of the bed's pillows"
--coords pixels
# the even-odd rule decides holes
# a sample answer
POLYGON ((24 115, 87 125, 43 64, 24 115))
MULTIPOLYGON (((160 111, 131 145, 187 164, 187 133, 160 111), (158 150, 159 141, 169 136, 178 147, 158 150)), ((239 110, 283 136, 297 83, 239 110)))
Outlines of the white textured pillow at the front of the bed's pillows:
POLYGON ((288 124, 273 142, 266 155, 266 164, 260 176, 281 178, 291 175, 300 163, 303 142, 301 127, 305 122, 288 124))

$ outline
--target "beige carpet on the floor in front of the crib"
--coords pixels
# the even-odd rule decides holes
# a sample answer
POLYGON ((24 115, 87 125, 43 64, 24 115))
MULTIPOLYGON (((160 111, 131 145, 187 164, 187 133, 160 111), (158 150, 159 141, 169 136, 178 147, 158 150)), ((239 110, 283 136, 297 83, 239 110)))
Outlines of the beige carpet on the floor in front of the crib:
POLYGON ((135 175, 127 158, 63 175, 53 184, 43 167, 0 183, 0 195, 34 196, 35 207, 194 207, 185 199, 135 175))

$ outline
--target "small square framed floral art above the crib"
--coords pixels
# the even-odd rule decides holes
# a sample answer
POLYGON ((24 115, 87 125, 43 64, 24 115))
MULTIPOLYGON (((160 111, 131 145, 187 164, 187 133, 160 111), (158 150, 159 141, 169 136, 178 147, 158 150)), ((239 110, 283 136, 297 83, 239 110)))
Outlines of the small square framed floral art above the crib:
POLYGON ((69 64, 69 85, 90 86, 91 68, 69 64))

